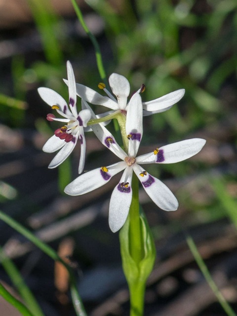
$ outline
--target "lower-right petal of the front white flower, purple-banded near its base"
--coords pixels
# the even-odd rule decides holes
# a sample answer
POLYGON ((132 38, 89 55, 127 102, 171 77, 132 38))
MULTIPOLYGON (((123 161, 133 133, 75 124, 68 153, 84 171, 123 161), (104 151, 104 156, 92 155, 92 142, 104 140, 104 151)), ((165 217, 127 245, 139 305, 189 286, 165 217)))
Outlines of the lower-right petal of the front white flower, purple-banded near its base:
POLYGON ((151 176, 148 172, 143 177, 140 173, 144 171, 141 166, 135 165, 133 167, 138 179, 143 185, 146 193, 151 197, 153 202, 165 211, 175 211, 179 203, 173 193, 157 178, 151 176))

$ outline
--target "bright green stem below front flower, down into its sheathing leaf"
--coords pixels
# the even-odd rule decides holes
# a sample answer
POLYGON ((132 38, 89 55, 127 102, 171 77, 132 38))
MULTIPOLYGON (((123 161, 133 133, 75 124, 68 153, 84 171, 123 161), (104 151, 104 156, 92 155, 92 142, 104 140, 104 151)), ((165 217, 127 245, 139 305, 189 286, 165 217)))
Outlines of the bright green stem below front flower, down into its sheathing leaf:
POLYGON ((139 214, 139 187, 138 178, 135 174, 132 177, 132 202, 129 210, 129 246, 130 254, 136 264, 144 257, 144 249, 141 238, 141 222, 139 214))

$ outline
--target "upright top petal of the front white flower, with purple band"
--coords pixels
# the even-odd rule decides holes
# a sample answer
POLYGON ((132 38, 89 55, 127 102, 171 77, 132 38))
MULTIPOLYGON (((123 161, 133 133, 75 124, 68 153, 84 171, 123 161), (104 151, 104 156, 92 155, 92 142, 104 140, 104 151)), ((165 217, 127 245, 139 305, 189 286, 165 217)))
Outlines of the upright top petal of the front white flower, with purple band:
POLYGON ((128 153, 136 157, 143 134, 142 99, 139 93, 134 93, 128 106, 126 118, 126 134, 130 135, 128 153))

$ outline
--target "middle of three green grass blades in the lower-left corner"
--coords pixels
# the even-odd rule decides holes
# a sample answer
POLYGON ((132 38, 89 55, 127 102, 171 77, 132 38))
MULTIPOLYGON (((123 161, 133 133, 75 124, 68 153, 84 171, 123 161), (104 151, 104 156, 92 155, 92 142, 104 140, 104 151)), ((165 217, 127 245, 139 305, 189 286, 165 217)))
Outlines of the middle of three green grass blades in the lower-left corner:
POLYGON ((43 316, 39 304, 37 303, 34 295, 32 294, 29 287, 24 282, 23 277, 19 273, 18 269, 16 268, 15 264, 12 260, 10 260, 5 254, 3 249, 0 247, 0 263, 2 264, 4 270, 6 271, 7 275, 10 277, 12 283, 16 287, 17 291, 19 292, 20 296, 28 306, 29 310, 32 314, 37 316, 43 316))

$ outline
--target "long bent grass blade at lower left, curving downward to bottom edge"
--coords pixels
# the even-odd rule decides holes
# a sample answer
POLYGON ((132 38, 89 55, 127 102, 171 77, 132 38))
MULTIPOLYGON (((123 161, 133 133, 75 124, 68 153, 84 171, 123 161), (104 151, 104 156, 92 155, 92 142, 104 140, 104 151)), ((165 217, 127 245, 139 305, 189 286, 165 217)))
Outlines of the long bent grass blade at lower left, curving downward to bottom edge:
POLYGON ((61 264, 64 265, 64 267, 68 270, 68 273, 70 276, 71 294, 72 294, 72 299, 73 299, 73 304, 74 304, 76 314, 77 316, 86 316, 81 298, 77 290, 77 283, 76 283, 75 276, 73 274, 72 269, 62 260, 62 258, 58 256, 56 251, 54 251, 51 247, 49 247, 47 244, 42 242, 39 238, 34 236, 29 230, 27 230, 21 224, 17 223, 14 219, 9 217, 2 211, 0 211, 0 219, 4 221, 6 224, 8 224, 10 227, 12 227, 14 230, 16 230, 18 233, 20 233, 21 235, 29 239, 32 243, 34 243, 38 248, 40 248, 40 250, 42 250, 50 258, 52 258, 55 261, 59 261, 61 264))

